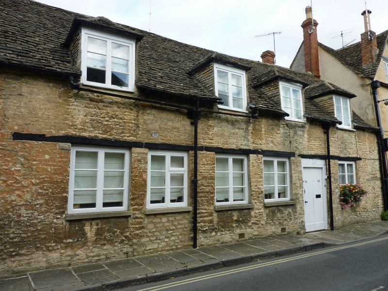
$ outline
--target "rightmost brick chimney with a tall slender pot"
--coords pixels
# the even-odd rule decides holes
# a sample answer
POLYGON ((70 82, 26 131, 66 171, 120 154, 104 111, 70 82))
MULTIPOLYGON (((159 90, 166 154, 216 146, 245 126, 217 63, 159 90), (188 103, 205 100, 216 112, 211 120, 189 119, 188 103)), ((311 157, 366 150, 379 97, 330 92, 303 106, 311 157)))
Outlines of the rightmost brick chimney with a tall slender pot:
POLYGON ((376 32, 371 30, 371 10, 364 10, 361 15, 364 16, 365 32, 361 33, 361 57, 362 65, 373 65, 376 60, 377 39, 376 32))

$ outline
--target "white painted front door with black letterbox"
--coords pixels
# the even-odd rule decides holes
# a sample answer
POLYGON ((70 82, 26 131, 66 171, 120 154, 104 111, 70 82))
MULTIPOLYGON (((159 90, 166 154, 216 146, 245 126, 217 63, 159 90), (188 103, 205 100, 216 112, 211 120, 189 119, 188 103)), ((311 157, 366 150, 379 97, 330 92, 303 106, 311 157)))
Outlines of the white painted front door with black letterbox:
POLYGON ((303 167, 303 198, 306 231, 325 229, 323 168, 303 167))

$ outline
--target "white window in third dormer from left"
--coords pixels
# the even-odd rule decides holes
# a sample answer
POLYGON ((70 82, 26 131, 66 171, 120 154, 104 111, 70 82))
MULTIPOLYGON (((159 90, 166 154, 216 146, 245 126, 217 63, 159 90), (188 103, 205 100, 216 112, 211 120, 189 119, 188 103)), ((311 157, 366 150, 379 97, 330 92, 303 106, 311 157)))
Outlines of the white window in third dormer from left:
POLYGON ((282 110, 289 113, 288 120, 304 121, 302 85, 280 82, 282 110))

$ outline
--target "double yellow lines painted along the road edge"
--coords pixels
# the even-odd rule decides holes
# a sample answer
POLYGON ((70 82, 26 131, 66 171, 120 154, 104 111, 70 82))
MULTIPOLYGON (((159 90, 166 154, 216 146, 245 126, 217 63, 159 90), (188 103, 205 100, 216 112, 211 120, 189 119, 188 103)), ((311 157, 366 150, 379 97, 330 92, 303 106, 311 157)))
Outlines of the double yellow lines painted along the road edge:
POLYGON ((215 273, 215 274, 198 276, 198 277, 194 277, 194 278, 191 278, 191 279, 182 280, 182 281, 179 281, 179 282, 167 283, 167 284, 163 284, 163 285, 160 285, 160 286, 155 286, 155 287, 149 287, 149 288, 141 289, 139 291, 158 291, 158 290, 163 290, 163 289, 177 287, 177 286, 180 286, 180 285, 190 284, 190 283, 194 283, 194 282, 198 282, 198 281, 202 281, 202 280, 207 280, 207 279, 211 279, 211 278, 216 278, 216 277, 221 277, 221 276, 225 276, 225 275, 235 274, 235 273, 244 272, 244 271, 248 271, 248 270, 258 269, 258 268, 262 268, 262 267, 266 267, 266 266, 271 266, 271 265, 275 265, 275 264, 279 264, 279 263, 285 263, 285 262, 289 262, 289 261, 293 261, 293 260, 297 260, 297 259, 304 259, 304 258, 308 258, 308 257, 312 257, 312 256, 322 255, 322 254, 326 254, 326 253, 335 252, 335 251, 338 251, 338 250, 343 250, 343 249, 347 249, 347 248, 351 248, 351 247, 356 247, 356 246, 360 246, 360 245, 364 245, 364 244, 369 244, 369 243, 373 243, 373 242, 380 242, 380 241, 384 241, 384 240, 388 240, 388 237, 381 238, 381 239, 376 239, 376 240, 372 240, 372 241, 368 241, 368 242, 359 242, 359 243, 352 244, 352 245, 339 246, 339 247, 330 248, 330 249, 319 251, 319 252, 314 252, 314 253, 311 253, 311 254, 304 254, 304 255, 300 255, 300 256, 295 256, 295 257, 292 257, 292 258, 278 259, 278 260, 271 261, 271 262, 260 263, 260 264, 256 264, 256 265, 253 265, 253 266, 246 266, 246 267, 242 267, 242 268, 238 268, 238 269, 233 269, 233 270, 228 270, 228 271, 224 271, 224 272, 219 272, 219 273, 215 273))

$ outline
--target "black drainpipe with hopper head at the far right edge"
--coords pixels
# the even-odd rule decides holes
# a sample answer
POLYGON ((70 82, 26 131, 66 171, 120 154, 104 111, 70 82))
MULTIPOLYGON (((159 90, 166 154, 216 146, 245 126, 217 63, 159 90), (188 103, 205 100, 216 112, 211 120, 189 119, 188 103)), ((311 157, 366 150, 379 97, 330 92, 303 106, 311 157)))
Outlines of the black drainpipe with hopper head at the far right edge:
POLYGON ((377 95, 377 89, 380 88, 380 82, 372 81, 371 87, 372 87, 372 95, 374 100, 374 112, 376 114, 376 123, 377 123, 377 127, 380 128, 380 132, 376 132, 376 137, 377 137, 377 143, 378 143, 378 153, 379 153, 379 163, 380 163, 381 190, 383 192, 384 210, 388 210, 387 156, 384 149, 384 129, 381 126, 379 100, 377 95))

